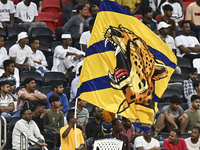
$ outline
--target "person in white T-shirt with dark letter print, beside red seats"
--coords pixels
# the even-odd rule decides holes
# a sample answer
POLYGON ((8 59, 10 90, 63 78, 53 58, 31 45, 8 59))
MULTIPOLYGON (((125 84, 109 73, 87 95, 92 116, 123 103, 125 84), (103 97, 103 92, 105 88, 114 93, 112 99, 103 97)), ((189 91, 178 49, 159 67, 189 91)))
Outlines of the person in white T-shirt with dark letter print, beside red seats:
POLYGON ((24 0, 17 4, 15 12, 15 22, 31 30, 34 27, 46 27, 44 22, 35 22, 38 16, 37 6, 32 0, 24 0))

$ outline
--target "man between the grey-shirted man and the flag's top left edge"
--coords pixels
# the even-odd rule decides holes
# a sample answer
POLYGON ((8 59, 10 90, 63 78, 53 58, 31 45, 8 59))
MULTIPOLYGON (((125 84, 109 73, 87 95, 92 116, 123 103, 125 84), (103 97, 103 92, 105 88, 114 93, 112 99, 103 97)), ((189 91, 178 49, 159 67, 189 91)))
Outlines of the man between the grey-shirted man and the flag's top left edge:
MULTIPOLYGON (((85 20, 85 27, 86 27, 88 30, 91 30, 91 25, 90 25, 89 22, 90 22, 91 19, 94 19, 94 20, 95 20, 95 18, 96 18, 96 16, 97 16, 97 12, 98 12, 97 6, 91 5, 90 8, 89 8, 89 12, 90 12, 91 16, 85 20)), ((93 25, 94 25, 94 21, 93 21, 92 26, 93 26, 93 25)), ((80 43, 80 42, 79 42, 79 43, 80 43)))

